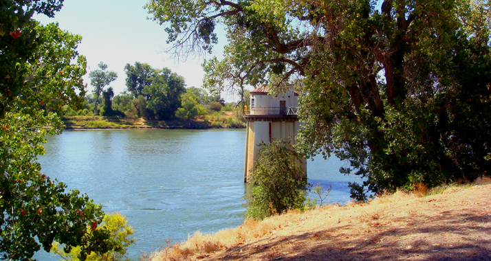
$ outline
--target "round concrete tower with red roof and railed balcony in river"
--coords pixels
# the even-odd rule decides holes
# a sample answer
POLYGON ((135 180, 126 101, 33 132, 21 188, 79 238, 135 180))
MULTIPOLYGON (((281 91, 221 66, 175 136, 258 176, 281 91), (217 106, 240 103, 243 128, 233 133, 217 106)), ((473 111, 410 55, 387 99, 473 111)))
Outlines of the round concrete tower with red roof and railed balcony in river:
MULTIPOLYGON (((269 95, 268 89, 261 86, 250 92, 250 111, 246 111, 246 162, 244 182, 252 180, 250 169, 254 166, 259 152, 259 144, 269 144, 274 139, 290 139, 293 145, 300 129, 298 93, 290 89, 279 95, 269 95)), ((307 162, 303 159, 303 172, 307 174, 307 162)))

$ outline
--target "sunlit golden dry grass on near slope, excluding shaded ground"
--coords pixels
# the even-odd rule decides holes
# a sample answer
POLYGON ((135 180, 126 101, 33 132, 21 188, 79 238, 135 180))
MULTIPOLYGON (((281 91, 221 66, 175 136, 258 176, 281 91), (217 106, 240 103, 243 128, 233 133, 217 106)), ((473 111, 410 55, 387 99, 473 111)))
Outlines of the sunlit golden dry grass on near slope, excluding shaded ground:
MULTIPOLYGON (((224 229, 216 234, 196 232, 193 236, 189 236, 185 242, 168 245, 161 251, 156 251, 151 253, 150 256, 143 257, 142 260, 196 260, 208 257, 210 257, 208 259, 213 260, 217 256, 223 257, 223 255, 241 256, 237 260, 263 260, 263 258, 271 260, 278 257, 279 253, 272 247, 266 249, 264 246, 272 245, 271 242, 276 242, 275 240, 278 240, 278 238, 283 238, 280 240, 281 242, 285 238, 292 241, 288 244, 281 243, 283 248, 281 253, 283 254, 295 253, 296 247, 304 245, 303 248, 305 248, 312 244, 312 240, 320 240, 323 244, 327 243, 322 240, 329 240, 334 245, 340 243, 338 242, 339 240, 348 240, 348 238, 350 240, 351 238, 361 240, 360 242, 364 242, 363 244, 382 242, 378 235, 382 235, 383 229, 387 227, 400 226, 404 228, 411 222, 420 222, 411 220, 435 218, 433 216, 436 214, 433 212, 426 213, 422 210, 424 207, 417 206, 444 203, 439 199, 435 199, 435 196, 422 197, 428 194, 432 195, 435 191, 439 191, 440 194, 448 194, 457 192, 457 190, 462 191, 475 185, 490 183, 490 178, 481 178, 468 185, 447 185, 442 187, 445 190, 442 188, 428 190, 424 185, 417 185, 412 193, 398 191, 394 194, 378 196, 365 203, 349 203, 345 206, 339 204, 324 205, 307 212, 288 212, 287 214, 272 216, 262 221, 248 219, 240 227, 224 229), (425 218, 425 216, 428 217, 425 218), (306 234, 310 236, 310 240, 294 239, 303 238, 303 235, 306 234), (362 240, 362 238, 365 239, 362 240), (366 238, 371 239, 367 241, 366 238), (247 255, 246 249, 255 255, 262 255, 262 257, 252 258, 247 255), (244 250, 244 253, 242 253, 242 250, 244 250)), ((441 209, 444 206, 441 205, 437 209, 441 209)), ((405 229, 402 229, 402 231, 405 231, 405 229)), ((397 237, 389 239, 399 240, 397 237)), ((384 240, 388 240, 388 238, 384 240)), ((294 254, 290 256, 292 255, 294 254)), ((302 259, 300 258, 299 260, 302 259)))

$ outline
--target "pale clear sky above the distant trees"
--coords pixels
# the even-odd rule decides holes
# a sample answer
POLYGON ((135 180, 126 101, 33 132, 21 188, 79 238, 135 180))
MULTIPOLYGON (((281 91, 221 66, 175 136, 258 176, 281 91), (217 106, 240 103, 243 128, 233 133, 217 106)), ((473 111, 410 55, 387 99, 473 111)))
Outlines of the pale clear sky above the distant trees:
MULTIPOLYGON (((149 14, 143 6, 147 0, 65 0, 63 8, 53 19, 36 15, 34 19, 43 24, 58 21, 59 27, 72 34, 80 34, 82 43, 79 54, 87 58, 85 83, 91 91, 89 71, 98 69, 98 63, 106 63, 108 70, 116 71, 118 79, 109 86, 114 93, 126 89, 124 65, 135 62, 149 63, 154 68, 170 68, 186 79, 186 87, 201 87, 204 71, 203 58, 190 56, 179 62, 163 52, 167 34, 164 26, 146 19, 149 14)), ((207 56, 221 57, 226 39, 219 34, 219 45, 215 53, 207 56), (220 37, 220 35, 222 37, 220 37)), ((223 95, 226 96, 226 95, 223 95)))

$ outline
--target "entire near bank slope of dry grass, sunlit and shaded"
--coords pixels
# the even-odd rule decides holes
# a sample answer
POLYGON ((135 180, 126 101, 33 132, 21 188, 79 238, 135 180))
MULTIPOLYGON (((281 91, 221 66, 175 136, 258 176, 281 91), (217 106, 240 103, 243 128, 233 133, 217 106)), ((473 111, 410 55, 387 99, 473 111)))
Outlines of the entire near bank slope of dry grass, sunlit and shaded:
POLYGON ((489 260, 490 199, 490 179, 418 188, 196 232, 142 260, 489 260))

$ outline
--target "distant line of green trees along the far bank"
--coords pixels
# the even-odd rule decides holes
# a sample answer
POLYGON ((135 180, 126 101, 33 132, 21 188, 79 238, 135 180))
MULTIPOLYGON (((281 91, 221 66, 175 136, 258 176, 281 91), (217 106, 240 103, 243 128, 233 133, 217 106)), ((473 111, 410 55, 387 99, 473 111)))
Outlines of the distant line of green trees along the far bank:
POLYGON ((148 63, 127 63, 124 66, 127 89, 115 95, 109 84, 118 78, 117 73, 107 71, 107 65, 102 62, 98 67, 89 73, 94 90, 85 95, 83 109, 75 111, 65 106, 63 115, 144 117, 151 120, 179 117, 189 120, 213 111, 234 109, 233 104, 226 104, 220 94, 209 94, 197 87, 186 88, 182 76, 168 68, 153 68, 148 63), (102 106, 98 107, 101 103, 102 106))

